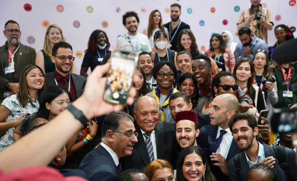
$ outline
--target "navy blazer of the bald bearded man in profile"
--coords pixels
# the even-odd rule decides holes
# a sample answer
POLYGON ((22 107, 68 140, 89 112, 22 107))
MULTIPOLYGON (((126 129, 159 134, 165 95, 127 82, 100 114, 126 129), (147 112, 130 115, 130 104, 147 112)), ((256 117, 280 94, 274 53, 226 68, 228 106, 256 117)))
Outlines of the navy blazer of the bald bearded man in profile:
MULTIPOLYGON (((202 126, 200 129, 199 136, 197 137, 197 145, 199 145, 201 148, 208 150, 210 144, 216 140, 216 135, 218 133, 219 126, 212 126, 212 125, 205 125, 202 126)), ((228 155, 226 158, 226 161, 230 160, 232 157, 234 157, 236 154, 241 153, 241 150, 236 145, 234 139, 232 139, 232 143, 230 145, 228 155)), ((216 163, 214 161, 210 160, 210 154, 206 155, 206 158, 208 158, 207 162, 210 165, 210 170, 215 174, 216 178, 218 180, 228 180, 228 176, 222 173, 221 169, 218 166, 214 166, 213 164, 216 163)), ((222 155, 224 156, 224 155, 222 155)))

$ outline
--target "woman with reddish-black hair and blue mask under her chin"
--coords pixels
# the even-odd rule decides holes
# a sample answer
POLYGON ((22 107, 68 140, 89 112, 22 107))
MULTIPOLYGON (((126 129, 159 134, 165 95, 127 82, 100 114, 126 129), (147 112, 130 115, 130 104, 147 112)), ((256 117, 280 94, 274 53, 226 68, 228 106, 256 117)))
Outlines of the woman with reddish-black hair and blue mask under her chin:
POLYGON ((110 43, 106 33, 102 30, 94 30, 88 41, 88 49, 85 51, 80 75, 88 77, 87 71, 89 67, 93 71, 97 65, 101 65, 104 56, 110 53, 109 47, 110 43))

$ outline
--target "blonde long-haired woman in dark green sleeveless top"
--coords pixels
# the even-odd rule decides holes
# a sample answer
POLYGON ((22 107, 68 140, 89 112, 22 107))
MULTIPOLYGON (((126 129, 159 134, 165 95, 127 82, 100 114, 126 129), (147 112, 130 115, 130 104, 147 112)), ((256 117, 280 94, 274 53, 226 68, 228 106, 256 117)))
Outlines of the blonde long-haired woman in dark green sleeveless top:
MULTIPOLYGON (((43 50, 37 52, 35 59, 35 64, 38 65, 44 73, 50 73, 56 69, 55 64, 51 61, 51 56, 53 46, 57 42, 65 42, 65 38, 62 34, 61 27, 52 24, 46 29, 43 50)), ((76 73, 75 62, 73 62, 71 73, 76 73)))

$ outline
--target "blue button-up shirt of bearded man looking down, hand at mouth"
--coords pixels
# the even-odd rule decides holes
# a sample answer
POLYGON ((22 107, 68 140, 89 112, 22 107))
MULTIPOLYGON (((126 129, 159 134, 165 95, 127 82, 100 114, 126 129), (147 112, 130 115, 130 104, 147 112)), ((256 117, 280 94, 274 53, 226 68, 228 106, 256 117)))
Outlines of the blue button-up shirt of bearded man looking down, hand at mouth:
MULTIPOLYGON (((239 42, 236 45, 236 48, 234 51, 236 62, 239 59, 244 58, 243 53, 244 53, 245 48, 246 47, 241 42, 239 42)), ((251 53, 247 57, 250 58, 251 60, 253 59, 253 56, 255 55, 255 53, 257 52, 258 49, 266 50, 266 52, 268 52, 267 43, 263 39, 258 38, 256 35, 254 35, 254 39, 251 42, 250 48, 251 48, 251 53)))

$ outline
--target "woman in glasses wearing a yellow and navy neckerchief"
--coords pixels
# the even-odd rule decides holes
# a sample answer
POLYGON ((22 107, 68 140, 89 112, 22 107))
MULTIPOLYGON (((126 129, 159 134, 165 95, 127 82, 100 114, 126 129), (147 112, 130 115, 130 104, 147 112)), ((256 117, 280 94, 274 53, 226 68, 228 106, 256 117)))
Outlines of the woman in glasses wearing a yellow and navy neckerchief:
POLYGON ((173 87, 174 79, 177 77, 177 71, 174 64, 170 61, 161 61, 155 64, 152 70, 152 76, 156 80, 158 86, 147 95, 154 97, 158 101, 160 108, 159 120, 174 124, 169 109, 169 97, 178 92, 173 87))

